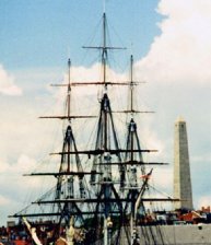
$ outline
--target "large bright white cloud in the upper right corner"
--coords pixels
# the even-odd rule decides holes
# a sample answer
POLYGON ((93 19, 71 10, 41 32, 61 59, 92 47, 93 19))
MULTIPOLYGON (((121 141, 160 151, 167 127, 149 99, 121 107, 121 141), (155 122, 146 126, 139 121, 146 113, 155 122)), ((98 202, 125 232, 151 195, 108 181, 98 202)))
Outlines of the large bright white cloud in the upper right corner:
POLYGON ((211 80, 211 2, 161 0, 162 34, 137 65, 146 81, 207 84, 211 80))

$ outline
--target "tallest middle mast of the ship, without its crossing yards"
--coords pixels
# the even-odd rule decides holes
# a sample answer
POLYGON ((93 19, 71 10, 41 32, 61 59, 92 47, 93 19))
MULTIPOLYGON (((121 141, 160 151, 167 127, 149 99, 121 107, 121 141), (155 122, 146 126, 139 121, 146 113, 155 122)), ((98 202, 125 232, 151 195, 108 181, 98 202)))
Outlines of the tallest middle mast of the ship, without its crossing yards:
MULTIPOLYGON (((97 126, 97 137, 95 142, 95 149, 101 149, 104 151, 102 155, 95 156, 93 161, 93 168, 92 171, 98 168, 99 172, 103 172, 103 175, 99 176, 97 179, 95 175, 91 177, 91 184, 95 186, 96 183, 96 198, 103 199, 104 202, 101 207, 97 205, 95 212, 102 209, 104 212, 103 215, 103 234, 104 234, 104 245, 110 244, 110 232, 112 229, 112 212, 115 209, 120 213, 122 212, 122 205, 119 201, 119 194, 114 186, 114 176, 112 171, 112 161, 113 156, 110 154, 110 149, 119 150, 119 144, 117 140, 116 129, 114 125, 110 101, 107 94, 107 50, 114 49, 114 47, 108 47, 106 43, 106 13, 103 13, 103 47, 102 47, 102 65, 103 65, 103 84, 105 92, 101 100, 101 108, 99 108, 99 118, 98 118, 98 126, 97 126), (112 142, 112 140, 114 142, 112 142), (112 203, 107 201, 108 199, 115 198, 116 203, 112 203), (116 206, 116 208, 115 208, 116 206)), ((117 153, 118 162, 121 162, 120 154, 117 153)), ((122 175, 122 174, 121 174, 122 175)), ((98 218, 95 217, 95 220, 98 218)))

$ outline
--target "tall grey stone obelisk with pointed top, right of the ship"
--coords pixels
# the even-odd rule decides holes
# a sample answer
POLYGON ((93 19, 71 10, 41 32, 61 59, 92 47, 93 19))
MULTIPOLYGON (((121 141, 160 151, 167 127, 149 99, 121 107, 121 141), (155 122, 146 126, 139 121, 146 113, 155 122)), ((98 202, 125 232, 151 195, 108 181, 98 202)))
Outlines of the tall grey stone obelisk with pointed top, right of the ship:
POLYGON ((175 122, 174 138, 174 198, 175 209, 192 210, 192 188, 188 153, 186 121, 179 117, 175 122))

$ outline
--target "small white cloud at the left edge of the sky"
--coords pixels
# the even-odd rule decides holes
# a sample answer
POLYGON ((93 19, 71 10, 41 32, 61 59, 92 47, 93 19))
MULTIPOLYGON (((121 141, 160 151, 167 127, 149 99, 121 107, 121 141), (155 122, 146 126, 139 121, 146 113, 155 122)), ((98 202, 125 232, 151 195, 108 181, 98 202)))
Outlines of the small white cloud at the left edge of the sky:
POLYGON ((14 84, 14 77, 9 74, 0 65, 0 93, 5 95, 21 95, 22 90, 14 84))

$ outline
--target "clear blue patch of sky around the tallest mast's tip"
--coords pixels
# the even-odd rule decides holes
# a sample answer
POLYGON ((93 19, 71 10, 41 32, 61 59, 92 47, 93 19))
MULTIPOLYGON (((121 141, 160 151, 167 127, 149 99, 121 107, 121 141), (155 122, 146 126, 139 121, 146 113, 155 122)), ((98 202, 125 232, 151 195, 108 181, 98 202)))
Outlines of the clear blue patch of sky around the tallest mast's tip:
MULTIPOLYGON (((156 4, 155 0, 106 1, 108 23, 121 45, 130 48, 132 43, 139 50, 136 58, 146 54, 160 32, 156 4)), ((1 62, 8 69, 62 66, 69 55, 79 65, 81 47, 89 45, 85 42, 102 18, 103 1, 1 1, 0 11, 1 62)))

